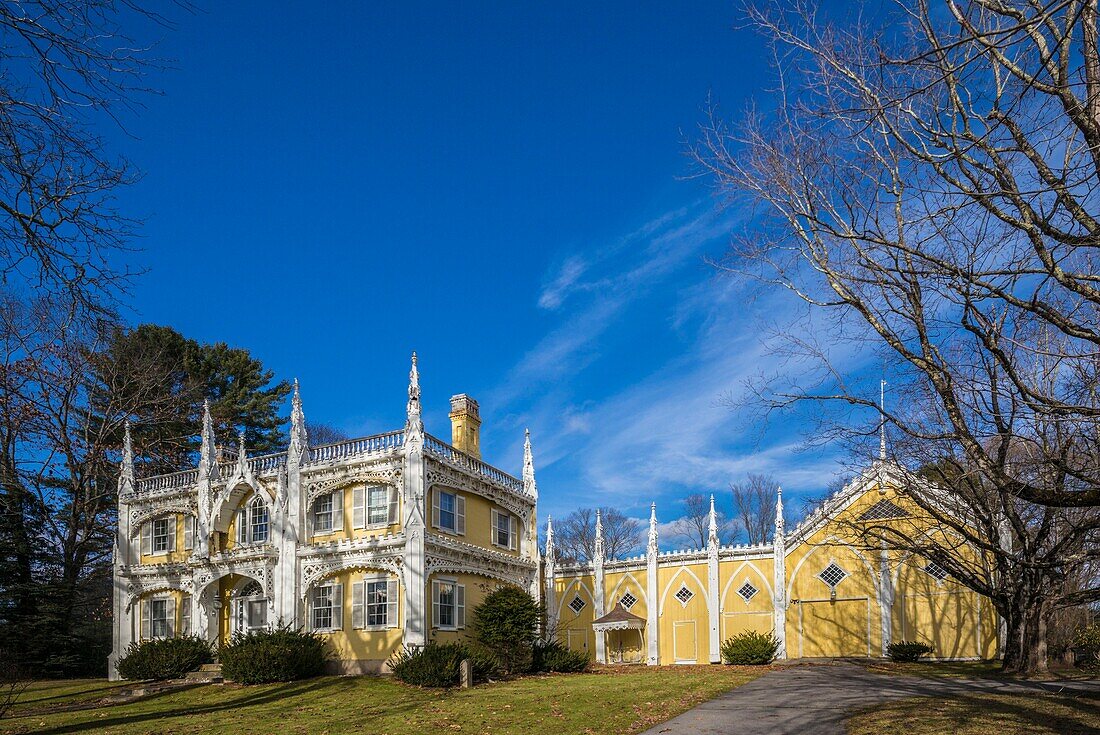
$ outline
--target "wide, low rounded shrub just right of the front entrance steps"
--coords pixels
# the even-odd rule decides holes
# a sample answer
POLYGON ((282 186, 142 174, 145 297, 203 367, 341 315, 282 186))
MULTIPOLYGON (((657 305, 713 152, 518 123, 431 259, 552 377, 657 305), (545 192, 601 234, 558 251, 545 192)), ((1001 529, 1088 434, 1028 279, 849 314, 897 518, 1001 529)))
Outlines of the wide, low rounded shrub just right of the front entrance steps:
POLYGON ((242 684, 294 681, 324 670, 324 639, 288 627, 238 634, 218 651, 221 672, 242 684))

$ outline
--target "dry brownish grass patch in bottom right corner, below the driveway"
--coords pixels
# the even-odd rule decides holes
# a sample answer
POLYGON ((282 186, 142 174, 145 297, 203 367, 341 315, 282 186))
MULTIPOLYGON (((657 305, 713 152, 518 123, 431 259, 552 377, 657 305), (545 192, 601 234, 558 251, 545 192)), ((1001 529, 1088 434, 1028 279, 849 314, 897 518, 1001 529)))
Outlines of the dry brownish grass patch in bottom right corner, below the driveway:
POLYGON ((1052 694, 920 696, 876 704, 848 720, 848 735, 1096 735, 1100 700, 1052 694))

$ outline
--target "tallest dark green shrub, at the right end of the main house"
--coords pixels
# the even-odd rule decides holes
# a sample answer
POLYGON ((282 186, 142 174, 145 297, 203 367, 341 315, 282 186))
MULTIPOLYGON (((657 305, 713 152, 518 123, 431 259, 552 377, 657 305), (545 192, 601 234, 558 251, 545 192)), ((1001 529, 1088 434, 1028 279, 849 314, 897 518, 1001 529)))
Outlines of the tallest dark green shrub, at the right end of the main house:
POLYGON ((530 594, 519 588, 502 586, 474 608, 474 639, 496 656, 504 673, 521 673, 531 667, 531 646, 541 617, 530 594))

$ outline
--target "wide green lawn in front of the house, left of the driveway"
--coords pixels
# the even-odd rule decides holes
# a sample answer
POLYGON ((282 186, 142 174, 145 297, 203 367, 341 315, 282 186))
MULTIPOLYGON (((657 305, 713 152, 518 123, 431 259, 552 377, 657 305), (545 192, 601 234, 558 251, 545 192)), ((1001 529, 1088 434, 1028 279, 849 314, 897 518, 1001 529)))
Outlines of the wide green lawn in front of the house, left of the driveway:
MULTIPOLYGON (((289 684, 198 687, 79 711, 32 709, 34 702, 40 707, 56 703, 51 688, 65 690, 72 683, 53 682, 36 685, 32 695, 38 699, 0 721, 0 733, 337 735, 362 733, 370 723, 375 735, 618 735, 641 732, 766 671, 768 667, 601 668, 452 691, 381 677, 323 677, 289 684)), ((97 684, 84 685, 77 696, 97 684)))

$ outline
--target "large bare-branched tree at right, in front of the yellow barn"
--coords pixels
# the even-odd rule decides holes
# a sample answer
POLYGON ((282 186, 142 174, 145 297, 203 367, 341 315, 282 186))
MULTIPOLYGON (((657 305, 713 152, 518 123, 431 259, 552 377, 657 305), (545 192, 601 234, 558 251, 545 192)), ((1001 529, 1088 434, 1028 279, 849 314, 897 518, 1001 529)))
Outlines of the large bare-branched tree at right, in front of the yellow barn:
POLYGON ((816 436, 864 457, 884 424, 891 460, 942 468, 952 500, 922 505, 991 568, 950 572, 1007 621, 1005 668, 1043 669, 1050 611, 1100 597, 1064 577, 1097 553, 1100 504, 1097 4, 917 0, 873 26, 801 1, 747 13, 778 110, 736 128, 712 111, 695 160, 759 207, 722 267, 817 327, 780 328, 809 368, 750 399, 815 404, 816 436), (880 409, 832 359, 846 344, 878 345, 904 402, 880 409))

